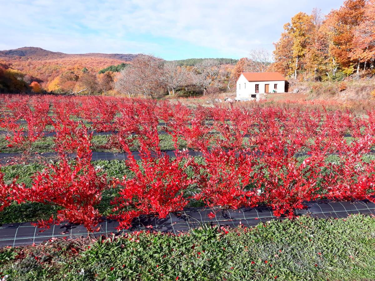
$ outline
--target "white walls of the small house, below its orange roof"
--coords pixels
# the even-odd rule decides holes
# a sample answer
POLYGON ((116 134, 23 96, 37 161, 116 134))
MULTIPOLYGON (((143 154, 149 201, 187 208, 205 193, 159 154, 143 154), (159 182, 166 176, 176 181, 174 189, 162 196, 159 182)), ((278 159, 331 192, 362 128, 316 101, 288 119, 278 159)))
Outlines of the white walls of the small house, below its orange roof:
POLYGON ((257 94, 256 99, 259 100, 261 95, 264 94, 265 85, 270 84, 269 93, 272 93, 274 90, 274 85, 277 84, 277 93, 284 93, 285 92, 285 81, 259 81, 259 82, 249 82, 248 79, 245 78, 241 74, 240 78, 237 80, 236 84, 236 91, 237 96, 236 99, 251 99, 251 94, 255 94, 255 84, 259 84, 259 93, 257 94))

